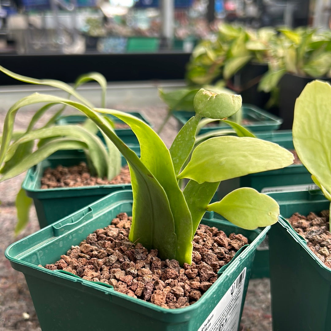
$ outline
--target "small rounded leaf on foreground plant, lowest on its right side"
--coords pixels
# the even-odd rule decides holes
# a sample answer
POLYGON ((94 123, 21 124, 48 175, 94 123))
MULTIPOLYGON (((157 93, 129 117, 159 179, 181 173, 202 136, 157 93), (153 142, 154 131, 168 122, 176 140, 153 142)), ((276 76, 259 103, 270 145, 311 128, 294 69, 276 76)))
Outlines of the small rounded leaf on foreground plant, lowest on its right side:
POLYGON ((279 215, 279 206, 274 199, 249 187, 230 192, 221 201, 208 205, 207 210, 248 230, 272 225, 279 215))

